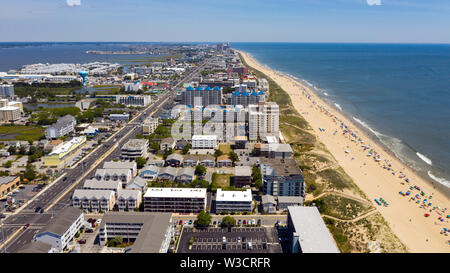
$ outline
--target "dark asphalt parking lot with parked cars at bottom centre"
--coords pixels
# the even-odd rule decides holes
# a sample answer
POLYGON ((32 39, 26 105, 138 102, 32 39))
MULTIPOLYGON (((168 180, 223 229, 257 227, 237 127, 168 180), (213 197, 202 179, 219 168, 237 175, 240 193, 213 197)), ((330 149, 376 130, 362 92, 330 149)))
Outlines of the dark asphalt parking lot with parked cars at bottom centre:
POLYGON ((272 227, 233 227, 231 231, 227 228, 194 230, 185 227, 178 253, 282 253, 282 249, 278 232, 272 227), (194 242, 190 247, 191 237, 194 242))

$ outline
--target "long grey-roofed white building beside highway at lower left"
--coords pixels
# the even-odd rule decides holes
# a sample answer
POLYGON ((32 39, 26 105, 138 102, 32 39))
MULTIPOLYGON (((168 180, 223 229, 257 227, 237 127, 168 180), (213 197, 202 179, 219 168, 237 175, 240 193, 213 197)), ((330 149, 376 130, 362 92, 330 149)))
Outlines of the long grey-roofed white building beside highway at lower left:
POLYGON ((62 209, 33 239, 48 245, 55 252, 63 252, 84 222, 83 212, 74 207, 62 209))

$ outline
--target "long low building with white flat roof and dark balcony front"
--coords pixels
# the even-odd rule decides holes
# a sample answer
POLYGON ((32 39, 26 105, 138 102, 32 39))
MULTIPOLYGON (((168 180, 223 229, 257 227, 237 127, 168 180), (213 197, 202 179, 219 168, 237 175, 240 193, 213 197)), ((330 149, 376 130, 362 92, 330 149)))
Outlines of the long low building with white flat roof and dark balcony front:
POLYGON ((206 201, 203 188, 148 188, 144 211, 199 213, 206 209, 206 201))

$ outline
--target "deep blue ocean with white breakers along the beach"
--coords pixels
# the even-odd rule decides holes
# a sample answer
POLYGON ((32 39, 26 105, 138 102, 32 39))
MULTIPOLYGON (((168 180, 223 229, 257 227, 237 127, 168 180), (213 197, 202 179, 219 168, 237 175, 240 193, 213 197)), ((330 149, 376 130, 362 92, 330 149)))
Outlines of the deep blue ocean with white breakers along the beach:
POLYGON ((303 80, 423 177, 450 188, 450 45, 231 47, 303 80))

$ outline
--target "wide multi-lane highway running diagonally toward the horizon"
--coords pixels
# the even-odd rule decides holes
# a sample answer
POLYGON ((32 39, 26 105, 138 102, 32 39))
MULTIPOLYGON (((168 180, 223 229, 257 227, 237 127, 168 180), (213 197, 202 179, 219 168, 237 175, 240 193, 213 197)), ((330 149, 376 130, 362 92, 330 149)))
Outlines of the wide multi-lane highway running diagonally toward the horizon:
POLYGON ((17 252, 20 250, 26 243, 31 241, 34 234, 45 223, 50 221, 52 217, 58 217, 58 211, 66 206, 70 206, 72 194, 75 189, 82 188, 82 181, 85 178, 93 177, 95 170, 97 167, 101 168, 103 162, 111 161, 119 156, 122 145, 141 133, 141 126, 138 124, 162 109, 167 102, 173 101, 176 96, 176 87, 183 82, 190 81, 211 59, 203 61, 197 68, 185 75, 184 78, 180 79, 165 94, 159 97, 157 101, 145 108, 94 151, 86 155, 75 167, 65 169, 63 176, 57 182, 43 189, 43 192, 32 202, 25 205, 20 212, 3 219, 3 229, 0 231, 0 253, 4 252, 3 242, 6 242, 6 252, 17 252), (35 213, 36 207, 43 208, 45 212, 35 213), (30 226, 17 232, 26 224, 30 226))

